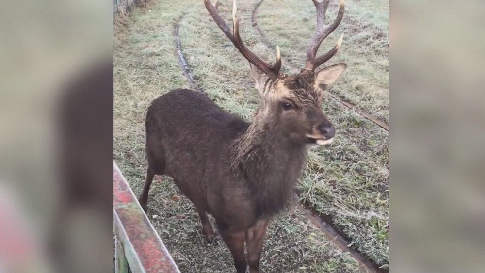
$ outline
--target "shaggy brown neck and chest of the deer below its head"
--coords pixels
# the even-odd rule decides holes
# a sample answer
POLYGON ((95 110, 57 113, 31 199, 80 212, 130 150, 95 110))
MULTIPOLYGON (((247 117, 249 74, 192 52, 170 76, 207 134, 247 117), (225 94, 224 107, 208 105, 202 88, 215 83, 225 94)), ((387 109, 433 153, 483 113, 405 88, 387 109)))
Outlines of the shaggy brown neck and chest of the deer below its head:
POLYGON ((285 137, 278 120, 259 111, 232 146, 231 168, 246 181, 259 213, 273 214, 291 198, 307 147, 285 137))

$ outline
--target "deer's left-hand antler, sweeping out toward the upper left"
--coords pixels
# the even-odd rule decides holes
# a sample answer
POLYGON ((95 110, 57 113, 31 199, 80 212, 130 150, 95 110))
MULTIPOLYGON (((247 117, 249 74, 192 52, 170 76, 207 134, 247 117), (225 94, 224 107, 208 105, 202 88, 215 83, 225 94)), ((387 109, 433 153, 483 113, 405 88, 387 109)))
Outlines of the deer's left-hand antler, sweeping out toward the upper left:
POLYGON ((275 65, 271 66, 256 56, 253 52, 251 52, 244 44, 242 43, 241 37, 239 36, 239 21, 238 17, 236 16, 236 0, 233 2, 232 6, 232 19, 233 19, 233 28, 234 34, 231 33, 229 27, 227 26, 224 19, 219 15, 219 11, 217 10, 218 0, 210 3, 210 0, 204 0, 204 4, 206 9, 209 11, 210 16, 214 19, 217 26, 226 34, 226 36, 231 40, 234 46, 241 52, 242 56, 246 58, 249 63, 255 65, 259 68, 264 74, 270 77, 272 80, 278 80, 280 78, 279 70, 281 68, 281 56, 279 54, 279 47, 276 47, 276 63, 275 65))

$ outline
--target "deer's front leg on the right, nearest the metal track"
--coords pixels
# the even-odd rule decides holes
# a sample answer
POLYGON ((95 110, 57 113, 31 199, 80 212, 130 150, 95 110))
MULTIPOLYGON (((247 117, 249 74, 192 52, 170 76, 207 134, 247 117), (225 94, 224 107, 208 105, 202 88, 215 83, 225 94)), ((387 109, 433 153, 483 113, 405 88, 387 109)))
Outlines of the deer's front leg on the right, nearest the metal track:
POLYGON ((247 261, 249 273, 259 273, 259 257, 263 249, 264 235, 268 227, 268 219, 259 220, 246 230, 247 261))

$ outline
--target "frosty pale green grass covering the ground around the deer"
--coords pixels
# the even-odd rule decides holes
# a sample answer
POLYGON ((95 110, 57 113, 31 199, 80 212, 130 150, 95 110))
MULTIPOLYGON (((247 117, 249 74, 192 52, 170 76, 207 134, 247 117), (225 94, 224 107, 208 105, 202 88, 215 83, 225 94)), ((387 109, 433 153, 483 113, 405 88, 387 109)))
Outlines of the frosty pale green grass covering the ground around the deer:
MULTIPOLYGON (((366 37, 365 33, 371 36, 372 33, 388 33, 388 17, 383 16, 387 11, 385 2, 367 2, 347 2, 341 26, 346 29, 368 26, 362 37, 366 37), (357 20, 359 24, 351 26, 346 18, 357 20)), ((251 26, 251 11, 257 3, 256 0, 238 2, 242 39, 259 56, 274 60, 274 48, 262 44, 251 26)), ((301 66, 314 27, 313 5, 310 0, 308 3, 289 0, 285 6, 276 3, 265 0, 260 5, 259 28, 271 43, 280 46, 284 58, 301 66)), ((231 7, 228 0, 222 1, 219 7, 229 25, 231 7)), ((202 1, 181 0, 177 4, 154 1, 144 8, 133 9, 123 20, 125 24, 120 22, 115 26, 114 35, 114 160, 134 192, 139 194, 146 171, 146 109, 153 99, 169 90, 190 87, 178 65, 172 36, 175 23, 179 22, 182 50, 194 79, 208 96, 246 120, 250 120, 259 97, 247 61, 210 19, 202 1)), ((339 27, 336 32, 341 31, 339 27)), ((387 120, 385 42, 372 40, 368 41, 371 46, 363 46, 356 35, 345 37, 332 63, 345 61, 348 69, 331 92, 387 120), (372 47, 374 49, 369 49, 372 47), (360 54, 361 51, 367 55, 360 54), (356 92, 355 86, 362 88, 356 92)), ((382 37, 387 39, 388 34, 382 37)), ((323 46, 329 48, 332 42, 323 46)), ((296 72, 288 67, 284 69, 286 73, 296 72)), ((386 265, 389 248, 388 132, 329 96, 325 96, 323 110, 336 125, 338 136, 329 147, 310 149, 304 176, 297 186, 300 201, 329 215, 358 250, 386 265)), ((152 223, 174 254, 181 271, 232 272, 227 248, 223 243, 214 246, 203 243, 193 205, 183 196, 180 201, 172 200, 174 194, 181 195, 170 179, 154 183, 148 215, 153 218, 152 223)), ((356 261, 328 241, 296 209, 289 209, 270 225, 261 263, 262 272, 357 271, 356 261)))

